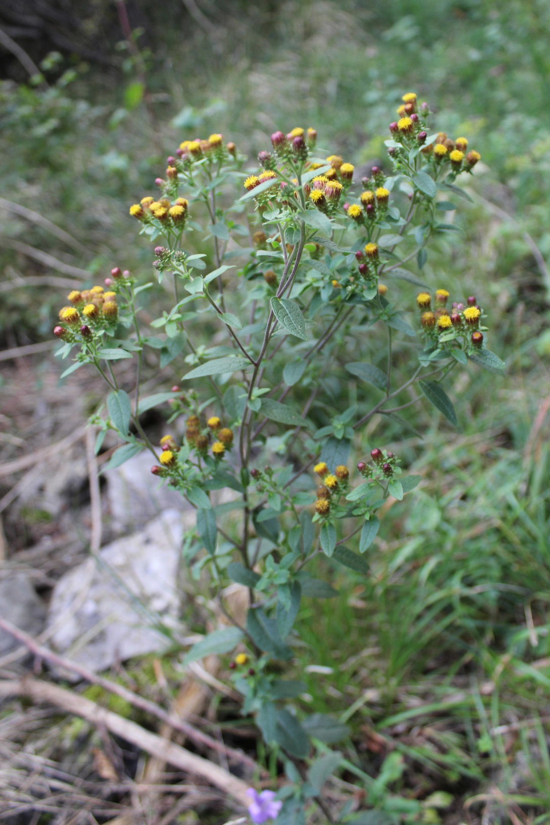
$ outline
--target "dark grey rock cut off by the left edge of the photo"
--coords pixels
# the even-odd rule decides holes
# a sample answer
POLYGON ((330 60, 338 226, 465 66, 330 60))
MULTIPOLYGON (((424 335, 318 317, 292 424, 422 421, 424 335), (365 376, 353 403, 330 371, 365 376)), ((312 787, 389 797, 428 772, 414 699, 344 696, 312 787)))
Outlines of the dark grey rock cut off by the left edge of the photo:
MULTIPOLYGON (((0 582, 0 616, 31 636, 44 629, 45 605, 25 573, 13 573, 0 582)), ((0 656, 20 646, 17 639, 0 630, 0 656)))

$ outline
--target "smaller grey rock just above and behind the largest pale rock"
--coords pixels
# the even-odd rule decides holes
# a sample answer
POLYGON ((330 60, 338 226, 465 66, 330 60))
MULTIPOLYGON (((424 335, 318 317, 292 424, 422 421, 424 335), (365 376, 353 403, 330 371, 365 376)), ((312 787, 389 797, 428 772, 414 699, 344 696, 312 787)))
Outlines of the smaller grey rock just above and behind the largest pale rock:
POLYGON ((151 473, 153 456, 144 450, 108 470, 106 501, 115 534, 135 530, 167 510, 189 510, 185 498, 151 473))

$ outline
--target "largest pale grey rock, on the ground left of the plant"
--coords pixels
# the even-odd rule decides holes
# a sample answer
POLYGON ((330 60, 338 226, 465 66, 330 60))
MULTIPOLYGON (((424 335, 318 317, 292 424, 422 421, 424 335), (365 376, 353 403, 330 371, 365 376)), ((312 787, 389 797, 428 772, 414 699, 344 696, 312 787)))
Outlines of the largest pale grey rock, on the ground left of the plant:
POLYGON ((93 671, 167 648, 155 625, 177 625, 181 540, 194 522, 168 510, 65 573, 49 606, 53 647, 93 671))

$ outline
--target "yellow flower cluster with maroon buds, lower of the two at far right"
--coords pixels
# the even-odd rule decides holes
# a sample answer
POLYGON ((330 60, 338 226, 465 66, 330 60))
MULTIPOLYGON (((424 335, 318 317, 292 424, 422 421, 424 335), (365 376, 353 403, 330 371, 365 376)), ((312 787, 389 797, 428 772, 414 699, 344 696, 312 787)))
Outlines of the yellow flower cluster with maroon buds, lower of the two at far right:
MULTIPOLYGON (((428 339, 444 344, 462 337, 466 350, 468 344, 472 347, 482 347, 483 334, 479 329, 482 309, 477 306, 475 295, 470 295, 465 304, 454 301, 450 311, 446 309, 448 299, 447 290, 436 290, 435 307, 432 308, 432 296, 429 292, 416 295, 416 304, 421 310, 421 325, 428 339)), ((486 327, 482 329, 487 330, 486 327)))

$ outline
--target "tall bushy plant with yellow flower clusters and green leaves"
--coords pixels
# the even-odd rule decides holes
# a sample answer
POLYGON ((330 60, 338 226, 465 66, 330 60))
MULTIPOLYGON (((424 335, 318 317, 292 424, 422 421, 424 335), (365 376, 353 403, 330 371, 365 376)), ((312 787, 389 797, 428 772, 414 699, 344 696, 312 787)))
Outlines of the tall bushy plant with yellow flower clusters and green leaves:
POLYGON ((429 106, 406 94, 385 142, 391 171, 373 166, 360 181, 351 163, 317 148, 313 129, 272 134, 258 170, 221 134, 185 140, 157 178, 160 194, 129 209, 154 244, 163 296, 173 296, 151 324, 155 334, 139 313, 153 283, 138 285, 119 267, 105 287, 68 295, 54 329, 59 354, 77 352, 64 375, 93 364, 109 384, 106 414, 93 418, 97 449, 114 429, 125 444, 111 466, 150 450, 153 474, 195 507, 187 558, 196 578, 208 573, 232 624, 195 644, 186 662, 233 652, 228 678, 242 713, 254 716, 289 780, 276 801, 252 791, 254 822, 304 823, 315 804, 331 821, 353 821, 351 801, 336 811, 322 799, 344 761, 328 745, 347 728, 300 713, 305 687, 281 671, 297 655, 302 600, 337 597, 312 573, 317 560, 368 575, 378 511, 420 481, 393 450, 369 449, 365 426, 370 439, 377 414, 393 422, 421 400, 457 425, 445 390, 451 372, 469 362, 503 370, 486 347, 477 299, 451 300, 444 288, 432 295, 407 268, 422 271, 430 240, 457 229, 440 216, 457 209, 449 196, 468 197, 454 181, 480 158, 467 139, 429 123, 429 106), (193 251, 197 235, 206 252, 193 251), (421 290, 417 308, 409 300, 413 323, 397 307, 400 281, 421 290), (365 360, 369 337, 375 363, 365 360), (143 397, 145 351, 163 370, 177 365, 184 389, 143 397), (134 385, 123 386, 115 364, 130 358, 134 385), (140 416, 163 403, 172 429, 156 445, 140 416), (219 503, 220 490, 230 500, 219 503), (228 582, 247 588, 244 622, 224 601, 228 582))

